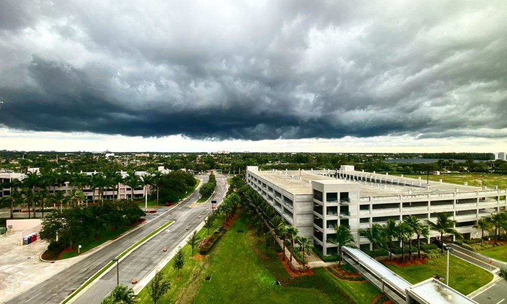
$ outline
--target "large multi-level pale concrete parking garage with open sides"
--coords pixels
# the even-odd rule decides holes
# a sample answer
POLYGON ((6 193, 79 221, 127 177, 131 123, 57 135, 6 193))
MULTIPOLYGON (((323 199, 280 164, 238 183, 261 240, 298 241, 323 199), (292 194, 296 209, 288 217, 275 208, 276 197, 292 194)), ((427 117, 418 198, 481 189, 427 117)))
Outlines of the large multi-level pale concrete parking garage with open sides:
MULTIPOLYGON (((403 220, 414 215, 421 222, 436 220, 438 212, 449 212, 465 239, 480 237, 477 220, 505 211, 506 190, 488 189, 422 179, 340 170, 260 171, 247 167, 246 180, 282 218, 298 228, 300 235, 313 238, 324 254, 336 254, 335 225, 349 227, 356 245, 370 249, 359 236, 360 229, 388 219, 403 220)), ((430 231, 431 237, 440 234, 430 231)), ((427 241, 427 240, 423 240, 427 241)))

